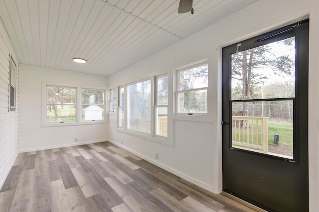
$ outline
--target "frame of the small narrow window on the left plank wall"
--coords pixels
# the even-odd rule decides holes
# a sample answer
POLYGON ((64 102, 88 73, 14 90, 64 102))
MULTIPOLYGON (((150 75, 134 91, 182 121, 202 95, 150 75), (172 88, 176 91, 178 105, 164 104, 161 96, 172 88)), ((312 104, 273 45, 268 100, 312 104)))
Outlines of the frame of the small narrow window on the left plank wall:
POLYGON ((8 109, 9 112, 15 111, 16 109, 16 64, 13 60, 12 55, 10 54, 10 62, 9 62, 9 102, 8 102, 8 109), (12 70, 12 67, 14 69, 12 70), (12 72, 14 72, 14 77, 12 77, 12 72), (12 78, 14 78, 14 85, 12 86, 12 78), (13 88, 13 91, 12 91, 13 88), (13 101, 13 102, 12 102, 13 101))

